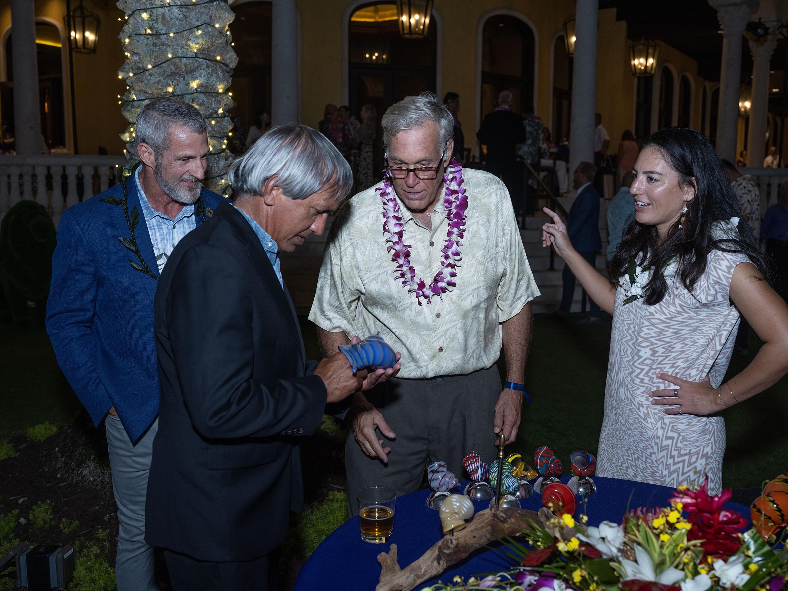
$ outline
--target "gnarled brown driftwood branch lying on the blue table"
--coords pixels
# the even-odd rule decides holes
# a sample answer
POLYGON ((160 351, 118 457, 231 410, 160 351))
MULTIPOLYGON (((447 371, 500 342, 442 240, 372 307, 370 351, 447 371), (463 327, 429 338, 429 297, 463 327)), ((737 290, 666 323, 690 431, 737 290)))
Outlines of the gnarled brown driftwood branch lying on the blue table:
MULTIPOLYGON (((391 545, 391 552, 381 552, 377 555, 377 562, 381 564, 381 578, 375 591, 411 591, 419 583, 437 577, 452 564, 459 563, 474 550, 500 539, 504 535, 516 536, 521 530, 530 530, 536 522, 545 526, 553 533, 553 528, 548 526, 550 519, 555 517, 548 509, 541 508, 537 511, 530 509, 504 508, 500 511, 485 509, 474 515, 465 529, 453 536, 444 536, 425 552, 424 556, 411 565, 400 568, 396 558, 396 544, 391 545)), ((562 537, 573 533, 569 528, 561 528, 562 537), (565 533, 564 533, 565 532, 565 533)))

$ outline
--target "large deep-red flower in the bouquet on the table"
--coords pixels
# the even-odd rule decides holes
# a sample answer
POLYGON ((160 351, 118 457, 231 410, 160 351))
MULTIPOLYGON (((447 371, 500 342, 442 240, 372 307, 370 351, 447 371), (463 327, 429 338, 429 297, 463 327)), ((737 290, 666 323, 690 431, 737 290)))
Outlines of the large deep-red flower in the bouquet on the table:
POLYGON ((702 540, 705 554, 731 556, 742 545, 741 530, 747 526, 747 520, 740 513, 723 509, 731 496, 733 492, 730 489, 709 496, 707 476, 700 489, 678 490, 671 498, 671 502, 681 503, 684 511, 689 513, 692 529, 687 532, 687 539, 702 540))

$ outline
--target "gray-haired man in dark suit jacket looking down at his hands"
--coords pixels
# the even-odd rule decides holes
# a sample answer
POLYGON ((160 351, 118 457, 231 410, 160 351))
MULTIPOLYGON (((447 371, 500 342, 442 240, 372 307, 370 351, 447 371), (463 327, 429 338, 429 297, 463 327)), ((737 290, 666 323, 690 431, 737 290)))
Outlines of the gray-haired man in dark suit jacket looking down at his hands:
POLYGON ((274 551, 303 503, 299 440, 327 402, 399 370, 353 374, 339 351, 319 365, 304 354, 278 252, 321 234, 352 187, 329 139, 271 128, 230 177, 234 206, 181 240, 156 294, 146 540, 165 548, 174 591, 276 589, 274 551))

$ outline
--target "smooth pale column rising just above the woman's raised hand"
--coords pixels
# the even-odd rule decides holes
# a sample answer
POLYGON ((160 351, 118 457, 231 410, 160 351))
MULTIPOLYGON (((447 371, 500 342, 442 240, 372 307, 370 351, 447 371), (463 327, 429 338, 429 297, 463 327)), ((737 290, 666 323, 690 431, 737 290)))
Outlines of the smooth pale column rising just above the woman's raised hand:
POLYGON ((569 138, 570 178, 578 162, 593 162, 594 113, 597 107, 597 12, 599 0, 578 0, 574 13, 574 69, 569 138))

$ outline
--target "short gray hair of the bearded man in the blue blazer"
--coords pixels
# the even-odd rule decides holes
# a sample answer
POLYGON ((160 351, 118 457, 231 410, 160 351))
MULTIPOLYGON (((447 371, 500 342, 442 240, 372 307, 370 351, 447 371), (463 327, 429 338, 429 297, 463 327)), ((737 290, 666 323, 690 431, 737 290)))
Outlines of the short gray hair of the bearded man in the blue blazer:
POLYGON ((139 111, 134 129, 136 145, 147 143, 153 148, 156 161, 161 162, 162 152, 169 148, 169 130, 173 127, 200 134, 208 132, 205 117, 194 105, 173 97, 162 97, 148 102, 139 111))

